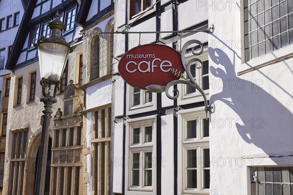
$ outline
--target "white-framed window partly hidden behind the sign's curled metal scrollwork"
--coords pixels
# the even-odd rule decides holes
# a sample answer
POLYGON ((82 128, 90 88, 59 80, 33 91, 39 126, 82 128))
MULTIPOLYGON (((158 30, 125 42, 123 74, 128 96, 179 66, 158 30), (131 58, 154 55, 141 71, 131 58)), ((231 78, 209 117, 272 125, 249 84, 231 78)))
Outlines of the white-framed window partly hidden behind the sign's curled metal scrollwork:
MULTIPOLYGON (((198 61, 195 61, 194 64, 192 64, 190 66, 190 73, 191 73, 192 77, 196 80, 197 84, 203 90, 209 90, 209 56, 208 56, 208 52, 207 51, 204 52, 202 55, 198 56, 197 58, 202 61, 202 64, 200 64, 200 62, 198 62, 198 61), (202 67, 197 68, 197 67, 200 67, 200 66, 202 66, 202 67)), ((188 59, 188 60, 190 60, 190 59, 188 59)), ((190 80, 187 77, 186 73, 185 73, 185 78, 187 80, 190 80)), ((185 85, 184 90, 185 91, 184 91, 183 94, 185 96, 187 96, 187 98, 189 96, 196 96, 196 95, 198 95, 200 93, 197 89, 195 89, 194 87, 191 87, 189 85, 185 85)))

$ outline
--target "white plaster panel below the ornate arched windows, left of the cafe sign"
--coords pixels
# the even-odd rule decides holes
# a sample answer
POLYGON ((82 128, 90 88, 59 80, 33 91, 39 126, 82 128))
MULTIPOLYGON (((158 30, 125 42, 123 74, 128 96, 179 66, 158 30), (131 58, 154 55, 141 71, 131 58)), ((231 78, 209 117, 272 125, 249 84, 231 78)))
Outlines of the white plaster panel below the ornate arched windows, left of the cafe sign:
POLYGON ((86 88, 86 109, 91 109, 111 103, 111 95, 111 78, 86 88))

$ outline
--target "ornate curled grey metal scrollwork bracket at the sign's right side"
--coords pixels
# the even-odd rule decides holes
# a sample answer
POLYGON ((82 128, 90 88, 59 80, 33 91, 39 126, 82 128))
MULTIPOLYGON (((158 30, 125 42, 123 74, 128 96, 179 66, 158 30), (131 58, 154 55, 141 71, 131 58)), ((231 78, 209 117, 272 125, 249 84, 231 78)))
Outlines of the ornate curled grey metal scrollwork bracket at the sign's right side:
MULTIPOLYGON (((188 47, 191 44, 198 44, 200 46, 200 50, 196 51, 196 47, 192 47, 191 48, 191 52, 193 55, 198 56, 201 55, 204 51, 204 46, 202 44, 202 42, 200 42, 199 40, 189 40, 187 41, 183 47, 182 47, 182 51, 181 51, 181 61, 183 63, 184 69, 187 73, 188 79, 189 80, 173 80, 171 82, 169 82, 166 85, 165 88, 165 92, 168 98, 170 99, 177 99, 179 97, 179 90, 174 89, 173 90, 173 94, 176 92, 175 96, 171 96, 168 92, 168 90, 170 89, 170 87, 172 87, 175 84, 186 84, 189 85, 191 87, 194 87, 195 89, 197 89, 203 96, 204 101, 205 101, 205 111, 206 111, 206 117, 208 118, 208 111, 211 112, 211 106, 208 105, 208 100, 207 100, 207 96, 204 92, 204 90, 197 84, 196 80, 192 77, 192 74, 190 72, 190 67, 191 65, 194 65, 195 62, 198 62, 195 64, 197 69, 201 69, 203 66, 203 62, 200 59, 194 58, 194 59, 190 59, 188 61, 188 63, 185 60, 185 54, 186 54, 186 50, 188 49, 188 47)), ((183 73, 178 72, 177 70, 171 69, 172 73, 178 77, 178 78, 183 78, 183 73)))

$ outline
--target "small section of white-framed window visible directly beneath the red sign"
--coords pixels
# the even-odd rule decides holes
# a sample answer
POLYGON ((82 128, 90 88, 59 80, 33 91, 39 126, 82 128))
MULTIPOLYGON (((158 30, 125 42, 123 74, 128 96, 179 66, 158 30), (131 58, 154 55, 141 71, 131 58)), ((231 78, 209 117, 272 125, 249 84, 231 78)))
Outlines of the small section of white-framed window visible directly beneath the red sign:
POLYGON ((144 105, 150 102, 152 102, 152 92, 132 88, 132 106, 144 105))

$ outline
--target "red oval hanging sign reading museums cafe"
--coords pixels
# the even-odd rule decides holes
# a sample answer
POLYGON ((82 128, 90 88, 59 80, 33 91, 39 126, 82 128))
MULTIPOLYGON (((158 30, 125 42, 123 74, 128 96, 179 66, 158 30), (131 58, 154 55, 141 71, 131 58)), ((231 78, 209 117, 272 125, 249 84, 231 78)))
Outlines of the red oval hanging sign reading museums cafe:
POLYGON ((181 75, 184 67, 181 55, 173 48, 146 44, 129 50, 121 58, 118 70, 129 85, 161 93, 170 81, 179 79, 174 73, 181 75))

